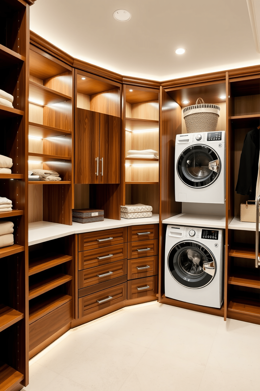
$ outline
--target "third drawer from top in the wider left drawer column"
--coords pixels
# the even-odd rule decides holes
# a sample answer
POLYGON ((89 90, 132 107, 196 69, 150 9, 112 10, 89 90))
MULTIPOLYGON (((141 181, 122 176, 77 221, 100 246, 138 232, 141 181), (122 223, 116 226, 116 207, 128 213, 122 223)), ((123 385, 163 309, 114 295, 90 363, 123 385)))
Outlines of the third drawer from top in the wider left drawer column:
POLYGON ((92 267, 78 272, 78 289, 112 280, 127 273, 127 260, 92 267))

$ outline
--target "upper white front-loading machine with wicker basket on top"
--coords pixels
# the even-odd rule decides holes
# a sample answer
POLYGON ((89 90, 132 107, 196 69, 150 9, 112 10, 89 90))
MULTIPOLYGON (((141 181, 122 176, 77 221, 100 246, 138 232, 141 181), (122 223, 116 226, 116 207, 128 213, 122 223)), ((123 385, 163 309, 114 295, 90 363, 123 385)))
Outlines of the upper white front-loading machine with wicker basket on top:
POLYGON ((225 132, 186 133, 175 141, 175 200, 224 204, 225 132))

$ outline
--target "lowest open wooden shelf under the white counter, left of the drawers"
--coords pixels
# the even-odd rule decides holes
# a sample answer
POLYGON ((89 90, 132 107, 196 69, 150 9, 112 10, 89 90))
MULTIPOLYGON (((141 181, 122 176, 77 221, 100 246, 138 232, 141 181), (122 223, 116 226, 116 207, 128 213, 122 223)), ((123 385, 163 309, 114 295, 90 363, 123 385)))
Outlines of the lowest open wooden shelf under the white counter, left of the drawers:
POLYGON ((49 300, 37 303, 29 309, 29 325, 70 300, 72 300, 71 296, 67 294, 60 294, 50 298, 49 300))

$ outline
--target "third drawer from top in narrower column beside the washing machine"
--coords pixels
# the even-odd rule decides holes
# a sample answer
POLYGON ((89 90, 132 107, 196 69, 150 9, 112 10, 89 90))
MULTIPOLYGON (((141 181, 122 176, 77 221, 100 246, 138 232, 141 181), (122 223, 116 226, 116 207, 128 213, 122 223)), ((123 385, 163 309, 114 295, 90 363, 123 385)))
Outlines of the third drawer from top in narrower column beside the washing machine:
POLYGON ((158 256, 145 256, 127 260, 127 279, 154 276, 158 274, 158 256))

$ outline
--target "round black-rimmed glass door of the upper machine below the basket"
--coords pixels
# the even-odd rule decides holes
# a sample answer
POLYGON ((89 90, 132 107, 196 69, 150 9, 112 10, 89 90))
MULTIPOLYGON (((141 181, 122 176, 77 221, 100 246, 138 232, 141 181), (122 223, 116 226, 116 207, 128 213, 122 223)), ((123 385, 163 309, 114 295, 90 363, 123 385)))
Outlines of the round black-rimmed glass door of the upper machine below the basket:
POLYGON ((190 187, 207 187, 219 176, 221 163, 218 154, 207 145, 186 148, 177 161, 177 172, 190 187))

